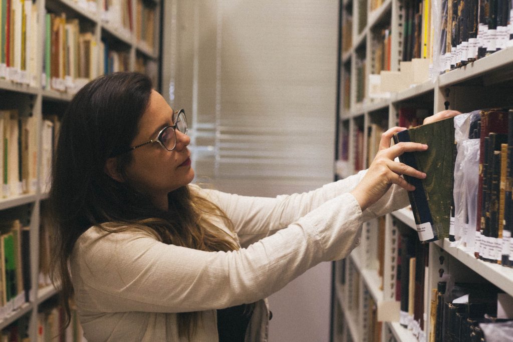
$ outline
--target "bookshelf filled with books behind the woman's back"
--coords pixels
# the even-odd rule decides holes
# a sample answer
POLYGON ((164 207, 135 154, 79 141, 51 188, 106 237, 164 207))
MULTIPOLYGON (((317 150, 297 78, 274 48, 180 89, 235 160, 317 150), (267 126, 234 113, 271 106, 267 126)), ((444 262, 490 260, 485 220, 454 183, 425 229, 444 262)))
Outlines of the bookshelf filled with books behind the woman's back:
MULTIPOLYGON (((48 198, 44 175, 48 174, 51 144, 55 130, 58 129, 58 118, 63 115, 73 94, 82 85, 104 73, 122 70, 144 72, 152 78, 155 88, 159 90, 159 28, 163 2, 9 0, 3 3, 6 6, 9 4, 14 11, 11 12, 13 19, 9 26, 13 30, 10 35, 13 40, 9 42, 14 49, 10 52, 10 57, 15 58, 11 58, 12 61, 7 63, 4 51, 6 39, 2 38, 0 32, 0 44, 4 47, 0 51, 0 113, 4 114, 0 116, 5 118, 7 111, 14 110, 20 118, 30 117, 28 120, 33 126, 27 128, 28 145, 34 144, 34 153, 30 155, 35 155, 35 158, 28 166, 24 165, 21 161, 25 154, 17 151, 20 161, 18 167, 20 175, 26 168, 35 171, 27 176, 27 179, 16 178, 20 181, 20 189, 23 190, 14 191, 16 187, 10 186, 8 196, 5 195, 7 188, 4 180, 2 182, 2 234, 10 231, 11 228, 6 226, 6 222, 14 218, 18 219, 21 227, 28 228, 29 237, 22 238, 27 245, 22 243, 20 250, 21 255, 30 250, 30 262, 24 261, 24 265, 30 266, 24 269, 30 276, 30 281, 24 278, 22 283, 27 290, 18 289, 15 298, 8 300, 7 303, 2 301, 4 305, 0 306, 0 336, 4 338, 9 334, 10 327, 17 325, 16 328, 23 329, 26 334, 22 338, 28 335, 28 340, 50 340, 53 337, 51 334, 58 328, 58 311, 54 309, 57 293, 48 283, 47 274, 44 274, 40 265, 46 263, 45 253, 48 253, 42 242, 49 239, 42 228, 45 225, 43 216, 48 198), (25 23, 25 27, 20 24, 19 18, 24 18, 22 22, 25 23), (55 51, 60 52, 55 54, 55 51), (45 125, 51 127, 51 130, 45 131, 45 125), (46 154, 48 151, 50 154, 46 154), (28 283, 30 286, 27 286, 28 283), (50 319, 53 320, 53 324, 49 323, 50 319), (41 327, 45 330, 43 336, 40 335, 41 327)), ((3 10, 5 8, 0 5, 0 13, 4 12, 3 10)), ((5 21, 6 17, 0 16, 0 20, 5 21)), ((0 125, 2 132, 4 122, 5 119, 0 125)), ((4 154, 3 144, 2 149, 4 154)), ((12 153, 14 152, 9 150, 7 158, 12 153)), ((4 175, 3 168, 4 164, 0 168, 4 175)), ((1 277, 4 276, 5 274, 1 277)), ((75 330, 67 332, 66 340, 82 340, 76 337, 76 331, 80 331, 80 328, 73 329, 75 330)))

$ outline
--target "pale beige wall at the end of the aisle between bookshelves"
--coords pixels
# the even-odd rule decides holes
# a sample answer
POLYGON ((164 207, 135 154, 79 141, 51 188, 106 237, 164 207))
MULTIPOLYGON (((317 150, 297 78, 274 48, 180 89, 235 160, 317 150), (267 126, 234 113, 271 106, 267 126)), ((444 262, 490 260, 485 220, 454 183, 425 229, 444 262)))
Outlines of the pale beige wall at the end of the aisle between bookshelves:
MULTIPOLYGON (((164 85, 196 174, 255 196, 333 178, 338 0, 165 1, 164 85), (194 149, 195 148, 195 149, 194 149)), ((270 341, 329 339, 330 265, 270 299, 270 341)))

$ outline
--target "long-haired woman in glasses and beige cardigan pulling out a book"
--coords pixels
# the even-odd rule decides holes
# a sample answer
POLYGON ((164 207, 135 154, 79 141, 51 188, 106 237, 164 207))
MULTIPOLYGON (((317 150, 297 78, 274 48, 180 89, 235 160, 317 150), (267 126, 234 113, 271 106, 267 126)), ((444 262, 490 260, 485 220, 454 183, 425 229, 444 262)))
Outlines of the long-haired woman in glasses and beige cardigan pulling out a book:
POLYGON ((185 115, 146 76, 95 79, 63 117, 50 192, 67 318, 73 296, 89 341, 265 340, 267 296, 408 204, 400 175, 425 174, 393 159, 427 146, 390 147, 399 130, 366 172, 304 194, 231 195, 190 184, 185 115))

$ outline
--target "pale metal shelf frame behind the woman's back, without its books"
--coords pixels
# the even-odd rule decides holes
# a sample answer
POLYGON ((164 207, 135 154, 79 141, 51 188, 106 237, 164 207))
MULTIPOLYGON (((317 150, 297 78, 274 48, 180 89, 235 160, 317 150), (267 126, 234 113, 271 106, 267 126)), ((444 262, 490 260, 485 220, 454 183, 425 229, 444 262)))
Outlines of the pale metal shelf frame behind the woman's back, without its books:
MULTIPOLYGON (((132 23, 135 23, 136 19, 136 0, 132 1, 132 23)), ((101 0, 97 0, 93 3, 87 2, 85 0, 43 0, 37 1, 34 3, 37 6, 37 16, 38 16, 38 36, 39 39, 36 39, 37 43, 37 61, 36 61, 36 78, 39 80, 43 71, 43 56, 44 56, 44 15, 45 11, 61 13, 64 12, 66 15, 70 17, 77 17, 81 21, 87 22, 89 26, 94 27, 93 35, 95 37, 96 42, 100 42, 103 38, 103 34, 108 32, 107 35, 109 39, 113 39, 116 42, 122 42, 126 44, 128 49, 131 51, 130 54, 130 68, 133 69, 135 65, 135 51, 144 55, 147 60, 154 61, 158 64, 160 59, 159 55, 159 45, 157 44, 160 39, 158 37, 159 30, 156 30, 157 27, 160 27, 160 7, 163 6, 163 2, 160 0, 153 1, 153 6, 155 6, 155 41, 153 42, 154 48, 151 49, 144 42, 137 42, 135 37, 135 27, 133 27, 133 33, 126 32, 126 30, 119 30, 115 27, 110 26, 101 19, 101 0)), ((135 25, 134 25, 135 26, 135 25)), ((100 56, 100 49, 98 49, 98 56, 100 56)), ((103 66, 103 61, 100 61, 98 58, 98 65, 96 66, 98 70, 103 66)), ((43 117, 43 107, 48 103, 58 103, 60 104, 59 108, 64 108, 66 104, 71 100, 73 94, 68 92, 60 92, 50 87, 44 87, 41 82, 38 82, 38 85, 41 86, 28 86, 26 84, 16 83, 9 81, 7 79, 0 79, 0 92, 4 92, 9 96, 14 96, 15 98, 23 98, 23 101, 30 101, 29 104, 26 103, 16 103, 14 105, 10 102, 9 99, 5 99, 3 96, 4 107, 15 106, 16 108, 22 108, 25 106, 31 107, 31 113, 37 119, 37 123, 41 125, 42 117, 43 117), (17 94, 24 94, 24 96, 17 96, 17 94), (25 96, 28 95, 28 96, 25 96), (26 99, 25 99, 26 97, 26 99)), ((158 87, 159 85, 155 85, 158 87)), ((1 102, 0 101, 0 102, 1 102)), ((41 127, 41 126, 40 126, 41 127)), ((31 133, 32 134, 32 133, 31 133)), ((35 132, 39 141, 41 142, 41 134, 40 132, 35 132)), ((41 143, 38 144, 38 164, 41 164, 41 156, 42 156, 42 148, 41 143)), ((37 166, 38 169, 38 186, 35 193, 22 194, 13 197, 7 197, 0 199, 0 210, 11 210, 18 207, 26 208, 26 215, 30 222, 30 262, 31 262, 31 292, 29 294, 29 301, 25 302, 24 298, 16 298, 15 300, 19 301, 19 303, 15 303, 14 307, 17 307, 15 310, 10 309, 2 309, 0 308, 0 330, 6 328, 13 322, 15 322, 18 318, 29 315, 30 317, 30 338, 32 340, 37 339, 37 326, 36 326, 36 315, 38 308, 41 304, 45 303, 46 300, 53 297, 57 291, 53 286, 47 286, 42 289, 38 289, 38 253, 39 253, 39 230, 40 230, 40 205, 41 202, 48 198, 47 193, 43 193, 41 190, 41 165, 37 166)))

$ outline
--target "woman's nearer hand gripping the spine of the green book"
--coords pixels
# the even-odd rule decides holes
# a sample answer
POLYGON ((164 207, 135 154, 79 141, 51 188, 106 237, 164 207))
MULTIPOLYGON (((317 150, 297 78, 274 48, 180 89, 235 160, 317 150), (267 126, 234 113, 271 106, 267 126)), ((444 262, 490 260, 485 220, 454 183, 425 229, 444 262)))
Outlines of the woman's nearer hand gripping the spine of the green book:
POLYGON ((408 191, 415 190, 415 187, 406 182, 401 175, 406 174, 421 179, 426 177, 424 172, 417 171, 406 164, 394 162, 394 159, 404 152, 425 151, 428 148, 427 145, 419 143, 399 143, 390 147, 393 134, 405 129, 393 127, 382 134, 376 157, 360 183, 351 191, 362 211, 376 203, 392 184, 397 184, 408 191))

